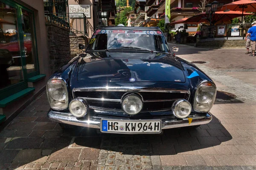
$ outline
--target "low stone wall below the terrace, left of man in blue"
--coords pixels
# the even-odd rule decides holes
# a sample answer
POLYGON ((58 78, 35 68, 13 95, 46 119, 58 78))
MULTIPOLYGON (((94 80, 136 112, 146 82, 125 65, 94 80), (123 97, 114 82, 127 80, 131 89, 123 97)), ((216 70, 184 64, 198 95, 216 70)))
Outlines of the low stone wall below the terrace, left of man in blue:
POLYGON ((201 48, 245 48, 245 45, 245 40, 215 40, 196 43, 196 47, 201 48))

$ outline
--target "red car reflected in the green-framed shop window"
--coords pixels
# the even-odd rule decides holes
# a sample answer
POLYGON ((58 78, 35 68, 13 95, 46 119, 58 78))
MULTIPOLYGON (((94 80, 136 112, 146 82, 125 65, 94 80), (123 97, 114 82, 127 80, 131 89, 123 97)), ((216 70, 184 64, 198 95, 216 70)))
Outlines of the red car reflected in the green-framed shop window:
MULTIPOLYGON (((28 57, 31 55, 32 51, 32 36, 31 34, 23 34, 23 40, 24 40, 24 51, 25 51, 25 57, 26 57, 26 63, 32 62, 32 57, 28 57)), ((10 42, 8 43, 1 43, 0 49, 6 49, 9 50, 12 54, 12 58, 17 58, 19 62, 20 61, 20 46, 18 42, 18 35, 12 35, 10 42)))

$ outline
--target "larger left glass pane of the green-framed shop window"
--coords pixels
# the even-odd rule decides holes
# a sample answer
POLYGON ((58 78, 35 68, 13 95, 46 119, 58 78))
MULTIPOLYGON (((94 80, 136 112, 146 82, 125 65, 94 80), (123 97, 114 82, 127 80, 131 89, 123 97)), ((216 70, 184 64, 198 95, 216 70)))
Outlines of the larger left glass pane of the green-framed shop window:
POLYGON ((23 81, 17 9, 0 3, 0 89, 23 81))

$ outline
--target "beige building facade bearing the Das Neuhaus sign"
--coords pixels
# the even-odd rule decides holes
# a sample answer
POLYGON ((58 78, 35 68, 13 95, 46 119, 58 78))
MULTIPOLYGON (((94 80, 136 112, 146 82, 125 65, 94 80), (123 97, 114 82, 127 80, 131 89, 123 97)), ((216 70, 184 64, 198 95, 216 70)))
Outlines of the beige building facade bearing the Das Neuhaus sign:
POLYGON ((92 37, 99 25, 115 24, 114 0, 68 0, 70 28, 76 36, 92 37))

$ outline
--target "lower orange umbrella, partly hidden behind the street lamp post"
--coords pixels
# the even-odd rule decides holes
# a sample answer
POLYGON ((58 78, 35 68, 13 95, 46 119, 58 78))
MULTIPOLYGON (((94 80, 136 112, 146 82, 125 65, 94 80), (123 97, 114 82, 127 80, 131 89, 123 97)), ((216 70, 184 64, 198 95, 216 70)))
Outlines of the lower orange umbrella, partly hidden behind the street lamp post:
MULTIPOLYGON (((251 13, 244 12, 242 13, 241 11, 216 11, 214 14, 212 14, 212 23, 224 23, 226 21, 232 20, 233 18, 236 17, 241 17, 242 15, 252 15, 251 13)), ((201 13, 198 15, 195 15, 193 17, 190 17, 189 19, 186 20, 186 22, 194 22, 194 23, 204 23, 204 22, 209 22, 209 19, 207 18, 208 14, 201 13)))

